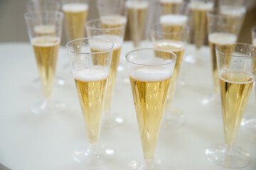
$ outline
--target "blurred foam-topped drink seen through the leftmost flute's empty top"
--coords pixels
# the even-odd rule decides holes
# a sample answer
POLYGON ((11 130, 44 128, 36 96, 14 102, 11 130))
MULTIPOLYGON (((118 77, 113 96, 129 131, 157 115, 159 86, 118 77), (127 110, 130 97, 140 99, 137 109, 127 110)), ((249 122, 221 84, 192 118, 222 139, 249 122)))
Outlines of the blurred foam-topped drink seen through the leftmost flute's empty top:
POLYGON ((41 25, 41 26, 35 26, 34 32, 36 33, 36 37, 39 36, 55 36, 55 26, 46 26, 46 25, 41 25))

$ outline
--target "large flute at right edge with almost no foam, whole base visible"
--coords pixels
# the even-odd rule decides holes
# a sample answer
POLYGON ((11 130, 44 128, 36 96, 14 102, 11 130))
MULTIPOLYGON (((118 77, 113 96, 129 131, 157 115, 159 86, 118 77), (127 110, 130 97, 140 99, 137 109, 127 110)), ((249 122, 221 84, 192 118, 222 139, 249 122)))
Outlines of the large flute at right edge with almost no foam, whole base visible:
POLYGON ((228 44, 216 47, 225 144, 206 149, 210 162, 226 168, 241 168, 250 155, 234 146, 242 115, 255 81, 256 49, 250 44, 228 44))

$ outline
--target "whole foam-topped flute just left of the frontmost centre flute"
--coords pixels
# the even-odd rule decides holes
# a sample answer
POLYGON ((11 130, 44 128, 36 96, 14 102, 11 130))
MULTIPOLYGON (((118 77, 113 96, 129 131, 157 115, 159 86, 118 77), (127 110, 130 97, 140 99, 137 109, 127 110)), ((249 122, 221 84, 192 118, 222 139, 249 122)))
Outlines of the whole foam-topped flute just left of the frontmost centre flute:
POLYGON ((114 45, 109 40, 80 38, 68 42, 66 47, 90 142, 89 147, 75 149, 73 157, 83 164, 104 164, 114 154, 97 147, 114 45))

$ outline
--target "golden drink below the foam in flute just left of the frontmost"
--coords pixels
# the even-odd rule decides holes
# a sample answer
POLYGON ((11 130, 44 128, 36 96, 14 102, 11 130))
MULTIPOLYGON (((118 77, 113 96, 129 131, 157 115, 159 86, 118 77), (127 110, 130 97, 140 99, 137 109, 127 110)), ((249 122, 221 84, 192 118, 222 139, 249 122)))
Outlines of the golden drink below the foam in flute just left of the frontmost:
POLYGON ((107 79, 100 79, 98 81, 81 81, 75 79, 75 85, 78 91, 89 141, 91 144, 95 144, 100 133, 107 79))

